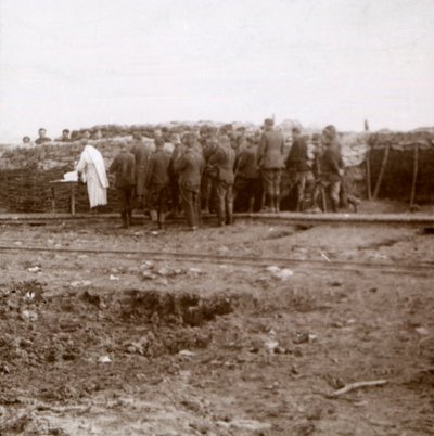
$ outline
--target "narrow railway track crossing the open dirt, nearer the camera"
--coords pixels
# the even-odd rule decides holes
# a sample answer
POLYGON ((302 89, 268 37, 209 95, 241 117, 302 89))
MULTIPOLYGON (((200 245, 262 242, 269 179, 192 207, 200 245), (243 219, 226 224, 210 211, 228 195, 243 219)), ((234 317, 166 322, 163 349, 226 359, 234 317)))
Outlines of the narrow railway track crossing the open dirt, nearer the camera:
POLYGON ((137 256, 143 259, 191 261, 199 264, 244 265, 265 268, 270 265, 292 267, 302 270, 329 270, 329 271, 369 271, 375 270, 382 273, 434 275, 434 261, 429 262, 370 262, 354 260, 324 259, 296 259, 288 257, 255 257, 255 256, 224 256, 206 253, 189 252, 155 252, 144 249, 105 249, 82 247, 44 247, 36 245, 0 245, 0 253, 74 253, 101 256, 137 256))

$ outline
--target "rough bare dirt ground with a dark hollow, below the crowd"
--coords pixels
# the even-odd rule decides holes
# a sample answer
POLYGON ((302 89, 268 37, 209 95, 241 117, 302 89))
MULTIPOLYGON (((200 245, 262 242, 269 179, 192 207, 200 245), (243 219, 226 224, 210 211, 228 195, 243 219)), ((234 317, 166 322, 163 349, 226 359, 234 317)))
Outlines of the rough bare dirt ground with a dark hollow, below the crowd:
POLYGON ((434 434, 434 268, 366 266, 433 262, 434 234, 117 225, 0 228, 1 435, 434 434))

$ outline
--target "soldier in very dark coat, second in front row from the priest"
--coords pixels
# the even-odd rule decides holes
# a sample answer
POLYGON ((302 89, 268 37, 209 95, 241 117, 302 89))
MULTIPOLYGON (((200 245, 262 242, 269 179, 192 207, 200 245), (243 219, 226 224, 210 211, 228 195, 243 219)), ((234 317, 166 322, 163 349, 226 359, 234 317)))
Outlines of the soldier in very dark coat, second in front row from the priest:
POLYGON ((166 221, 168 203, 170 200, 170 154, 164 150, 162 138, 155 139, 155 152, 151 155, 145 185, 151 219, 163 229, 166 221))

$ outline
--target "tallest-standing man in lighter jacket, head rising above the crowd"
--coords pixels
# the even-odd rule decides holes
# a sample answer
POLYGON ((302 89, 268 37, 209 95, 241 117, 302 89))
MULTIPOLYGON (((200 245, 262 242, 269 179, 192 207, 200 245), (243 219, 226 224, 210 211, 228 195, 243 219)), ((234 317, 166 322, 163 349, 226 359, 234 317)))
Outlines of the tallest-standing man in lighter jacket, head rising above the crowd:
POLYGON ((260 137, 257 159, 264 191, 268 195, 268 206, 271 211, 278 213, 280 210, 280 180, 283 168, 284 139, 280 131, 275 130, 273 125, 275 121, 271 118, 264 121, 264 132, 260 137))

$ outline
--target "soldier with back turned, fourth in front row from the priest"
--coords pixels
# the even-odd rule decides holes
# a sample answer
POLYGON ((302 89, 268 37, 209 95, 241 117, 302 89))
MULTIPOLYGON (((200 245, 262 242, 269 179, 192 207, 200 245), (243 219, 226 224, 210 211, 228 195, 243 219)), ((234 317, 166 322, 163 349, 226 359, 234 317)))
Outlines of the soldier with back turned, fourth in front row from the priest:
POLYGON ((207 162, 213 175, 213 197, 216 201, 218 226, 233 222, 232 187, 234 181, 233 165, 235 152, 225 132, 218 138, 218 145, 207 162))

